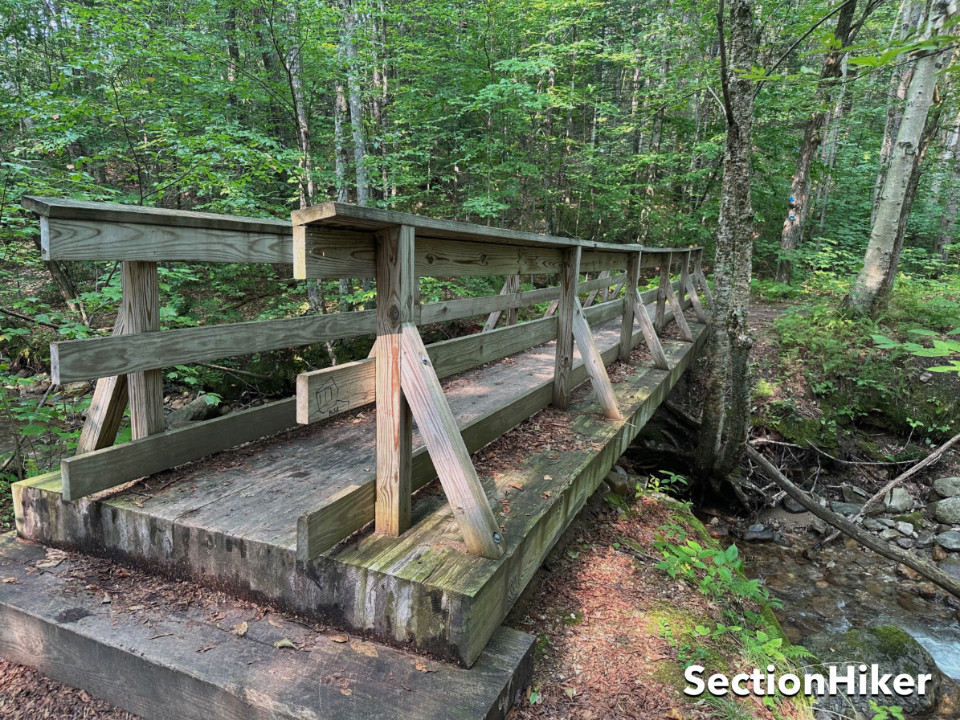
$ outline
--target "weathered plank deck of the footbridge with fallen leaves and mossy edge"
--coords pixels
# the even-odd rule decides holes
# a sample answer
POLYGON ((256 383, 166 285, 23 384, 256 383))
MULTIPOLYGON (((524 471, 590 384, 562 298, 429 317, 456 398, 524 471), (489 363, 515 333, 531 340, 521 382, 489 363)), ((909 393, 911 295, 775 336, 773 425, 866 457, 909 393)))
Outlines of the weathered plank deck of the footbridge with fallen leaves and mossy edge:
MULTIPOLYGON (((568 410, 535 415, 508 434, 505 445, 475 455, 506 546, 497 560, 464 552, 443 494, 428 487, 414 498, 414 524, 401 537, 367 527, 314 560, 297 561, 297 518, 375 477, 372 407, 70 503, 60 497, 59 474, 25 481, 15 488, 18 531, 46 544, 187 574, 469 665, 695 357, 705 335, 702 325, 692 319, 690 325, 694 343, 664 339, 669 372, 654 369, 635 350, 631 365, 615 373, 623 421, 598 414, 590 385, 583 384, 568 410), (548 426, 555 432, 541 432, 548 426), (518 437, 522 443, 511 440, 518 437), (509 456, 498 455, 504 452, 509 456)), ((611 362, 619 320, 593 332, 611 362)), ((446 381, 460 426, 518 399, 547 405, 554 352, 549 343, 446 381)), ((580 383, 579 356, 577 365, 580 383)), ((414 446, 420 444, 415 435, 414 446)))

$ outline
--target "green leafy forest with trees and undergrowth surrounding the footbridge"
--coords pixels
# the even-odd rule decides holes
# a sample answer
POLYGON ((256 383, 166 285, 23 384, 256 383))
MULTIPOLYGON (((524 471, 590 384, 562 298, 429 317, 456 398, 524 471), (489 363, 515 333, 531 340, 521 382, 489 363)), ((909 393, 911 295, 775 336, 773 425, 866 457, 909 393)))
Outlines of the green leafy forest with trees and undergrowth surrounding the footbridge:
MULTIPOLYGON (((844 514, 939 448, 906 478, 925 502, 934 477, 960 475, 958 22, 945 0, 0 0, 0 531, 14 527, 11 484, 69 457, 90 405, 91 383, 51 382, 50 343, 109 335, 121 297, 120 263, 41 258, 23 196, 281 220, 337 200, 703 246, 702 414, 658 415, 637 472, 760 541, 776 528, 758 513, 793 496, 774 474, 844 514)), ((164 329, 375 297, 369 281, 293 280, 283 265, 159 273, 164 329)), ((425 277, 420 293, 503 282, 425 277)), ((192 408, 187 421, 226 414, 369 349, 165 368, 164 400, 192 408)), ((925 552, 956 592, 960 512, 912 509, 890 514, 912 536, 885 539, 925 552)), ((661 550, 676 571, 682 556, 661 550)), ((929 613, 952 613, 906 564, 936 596, 929 613)))

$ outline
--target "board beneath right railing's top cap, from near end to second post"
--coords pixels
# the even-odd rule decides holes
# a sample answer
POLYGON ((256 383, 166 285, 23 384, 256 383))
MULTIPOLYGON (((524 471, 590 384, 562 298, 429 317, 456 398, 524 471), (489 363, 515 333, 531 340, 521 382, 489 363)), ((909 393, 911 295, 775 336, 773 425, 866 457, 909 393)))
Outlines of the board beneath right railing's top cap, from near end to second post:
MULTIPOLYGON (((294 277, 373 277, 376 274, 373 241, 335 241, 325 228, 294 228, 294 277)), ((560 251, 461 240, 417 237, 416 272, 419 277, 477 277, 556 273, 560 251)))

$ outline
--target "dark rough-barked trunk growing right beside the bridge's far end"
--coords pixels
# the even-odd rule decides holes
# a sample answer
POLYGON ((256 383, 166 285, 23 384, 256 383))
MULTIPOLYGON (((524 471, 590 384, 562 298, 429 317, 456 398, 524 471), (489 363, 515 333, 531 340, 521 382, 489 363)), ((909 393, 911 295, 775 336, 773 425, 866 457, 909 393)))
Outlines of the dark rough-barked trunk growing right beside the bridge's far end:
POLYGON ((723 15, 721 0, 717 24, 727 138, 706 352, 706 397, 696 453, 697 469, 717 488, 739 462, 750 419, 747 309, 753 252, 750 134, 754 88, 738 71, 746 72, 756 62, 758 44, 753 3, 733 0, 728 60, 723 15))

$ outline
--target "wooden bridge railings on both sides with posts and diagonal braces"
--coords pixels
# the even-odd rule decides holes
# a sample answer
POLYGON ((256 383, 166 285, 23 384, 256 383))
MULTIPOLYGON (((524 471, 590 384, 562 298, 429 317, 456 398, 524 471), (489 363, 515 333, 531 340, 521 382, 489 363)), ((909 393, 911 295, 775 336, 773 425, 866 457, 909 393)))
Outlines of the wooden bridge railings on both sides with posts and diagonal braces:
POLYGON ((40 216, 44 259, 122 262, 121 310, 113 336, 51 346, 54 382, 99 378, 77 455, 61 465, 65 500, 376 403, 376 478, 358 481, 298 519, 303 560, 371 520, 381 532, 402 533, 410 522, 410 494, 438 475, 470 552, 496 557, 503 543, 469 452, 551 402, 565 407, 572 388, 586 377, 606 414, 619 417, 605 370, 613 355, 601 356, 592 346, 590 324, 621 317, 616 354, 625 358, 639 342, 634 332, 639 322, 655 364, 666 368, 658 331, 672 315, 681 336, 691 339, 681 308, 692 302, 702 316, 697 287, 709 293, 700 248, 610 245, 339 203, 294 213, 292 225, 49 198, 25 198, 23 204, 40 216), (297 278, 375 278, 377 309, 161 331, 157 263, 166 261, 293 262, 297 278), (678 263, 679 279, 671 282, 678 263), (660 284, 641 297, 637 284, 643 268, 659 268, 660 284), (580 281, 585 272, 599 277, 580 281), (542 273, 558 275, 559 285, 519 291, 519 275, 542 273), (420 277, 480 275, 507 276, 503 291, 420 303, 420 277), (590 294, 581 304, 584 293, 590 294), (601 302, 592 304, 598 296, 601 302), (548 312, 515 324, 517 310, 547 301, 555 301, 555 316, 548 312), (651 318, 645 304, 654 301, 651 318), (416 329, 478 315, 488 315, 482 333, 429 346, 416 329), (501 315, 506 325, 495 329, 501 315), (164 367, 361 335, 377 336, 375 358, 304 373, 296 397, 165 429, 164 367), (557 340, 557 350, 550 387, 457 427, 439 378, 551 340, 557 340), (575 342, 584 360, 576 368, 575 342), (128 404, 133 440, 114 445, 128 404), (417 453, 410 441, 411 415, 426 444, 417 453))

